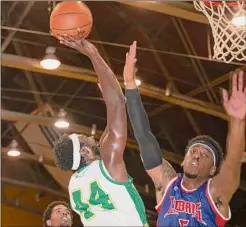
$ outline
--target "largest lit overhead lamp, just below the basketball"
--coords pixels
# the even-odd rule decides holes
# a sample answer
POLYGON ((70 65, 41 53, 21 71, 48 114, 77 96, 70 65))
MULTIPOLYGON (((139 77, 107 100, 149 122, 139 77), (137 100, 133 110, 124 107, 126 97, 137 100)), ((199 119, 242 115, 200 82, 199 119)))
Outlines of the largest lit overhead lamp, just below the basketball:
POLYGON ((44 56, 44 59, 40 62, 40 65, 49 70, 55 70, 59 68, 61 65, 61 62, 57 59, 55 56, 56 48, 55 47, 47 47, 46 48, 46 55, 44 56))

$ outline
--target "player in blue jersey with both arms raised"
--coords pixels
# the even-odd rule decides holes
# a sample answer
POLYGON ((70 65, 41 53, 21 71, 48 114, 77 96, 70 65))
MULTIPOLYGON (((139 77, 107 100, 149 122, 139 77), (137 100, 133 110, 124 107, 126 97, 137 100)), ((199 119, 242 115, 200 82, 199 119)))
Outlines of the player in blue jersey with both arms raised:
POLYGON ((241 159, 245 148, 246 89, 244 73, 232 76, 232 91, 223 89, 223 105, 229 117, 226 158, 209 136, 189 141, 183 174, 177 174, 162 159, 151 133, 148 117, 135 83, 136 43, 126 56, 124 80, 127 110, 144 167, 156 188, 157 226, 224 226, 230 219, 229 202, 239 187, 241 159), (222 163, 222 164, 221 164, 222 163))

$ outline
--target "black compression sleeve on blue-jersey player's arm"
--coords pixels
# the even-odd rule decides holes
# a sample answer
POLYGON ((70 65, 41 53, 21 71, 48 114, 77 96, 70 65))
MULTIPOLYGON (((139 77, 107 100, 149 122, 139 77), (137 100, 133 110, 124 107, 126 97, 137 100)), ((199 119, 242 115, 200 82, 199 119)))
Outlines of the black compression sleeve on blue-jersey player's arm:
POLYGON ((134 136, 138 142, 141 158, 146 170, 162 164, 159 143, 152 134, 148 116, 144 110, 138 89, 126 89, 127 112, 132 124, 134 136))

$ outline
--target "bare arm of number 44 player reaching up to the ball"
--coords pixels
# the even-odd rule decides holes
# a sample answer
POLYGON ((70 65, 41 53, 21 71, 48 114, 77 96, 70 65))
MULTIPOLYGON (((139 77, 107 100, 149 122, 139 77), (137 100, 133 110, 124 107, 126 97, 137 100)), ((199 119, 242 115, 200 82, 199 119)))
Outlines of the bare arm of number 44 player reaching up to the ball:
POLYGON ((118 181, 127 181, 123 160, 127 140, 125 97, 116 76, 100 56, 96 47, 87 40, 61 37, 61 43, 87 55, 99 78, 100 89, 107 108, 107 134, 100 144, 100 154, 110 175, 118 181))

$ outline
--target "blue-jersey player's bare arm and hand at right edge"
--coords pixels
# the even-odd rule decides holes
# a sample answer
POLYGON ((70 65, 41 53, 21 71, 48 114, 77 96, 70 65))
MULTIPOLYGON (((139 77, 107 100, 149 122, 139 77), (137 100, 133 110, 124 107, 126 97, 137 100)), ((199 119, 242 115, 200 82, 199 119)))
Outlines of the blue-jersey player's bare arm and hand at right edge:
MULTIPOLYGON (((222 212, 227 207, 240 184, 242 157, 245 149, 246 89, 244 73, 232 76, 232 92, 223 89, 223 105, 229 116, 226 158, 220 172, 210 184, 213 200, 221 204, 222 212)), ((227 211, 225 211, 225 215, 227 211)))

